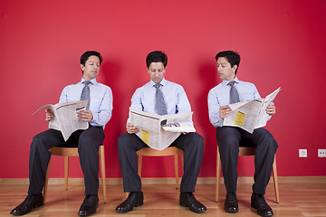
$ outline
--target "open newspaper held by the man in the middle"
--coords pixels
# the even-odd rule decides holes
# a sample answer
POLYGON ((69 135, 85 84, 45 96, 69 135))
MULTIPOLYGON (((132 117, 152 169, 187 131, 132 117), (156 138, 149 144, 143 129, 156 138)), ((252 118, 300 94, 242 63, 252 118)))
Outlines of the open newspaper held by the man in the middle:
POLYGON ((161 151, 171 145, 182 132, 196 132, 191 121, 193 112, 159 116, 129 109, 130 124, 139 128, 136 134, 148 146, 161 151))

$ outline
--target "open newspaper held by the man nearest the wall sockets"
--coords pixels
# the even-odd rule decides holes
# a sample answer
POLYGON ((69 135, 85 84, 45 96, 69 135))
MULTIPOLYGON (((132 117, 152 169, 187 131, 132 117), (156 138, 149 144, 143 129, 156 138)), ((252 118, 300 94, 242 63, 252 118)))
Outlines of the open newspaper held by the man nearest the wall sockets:
POLYGON ((270 115, 266 113, 267 106, 273 102, 281 87, 265 97, 230 104, 230 115, 224 119, 223 126, 241 127, 249 133, 255 128, 264 127, 270 115))

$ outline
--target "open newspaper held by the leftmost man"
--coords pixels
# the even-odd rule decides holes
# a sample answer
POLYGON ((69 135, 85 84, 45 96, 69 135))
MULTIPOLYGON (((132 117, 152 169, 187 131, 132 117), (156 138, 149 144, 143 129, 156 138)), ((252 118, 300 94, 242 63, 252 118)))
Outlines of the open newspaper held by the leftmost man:
POLYGON ((82 121, 77 116, 77 112, 86 109, 87 100, 62 102, 55 105, 45 105, 37 109, 33 115, 41 109, 49 109, 53 112, 54 118, 49 121, 49 128, 53 128, 62 132, 64 141, 72 135, 77 129, 87 129, 89 123, 82 121))

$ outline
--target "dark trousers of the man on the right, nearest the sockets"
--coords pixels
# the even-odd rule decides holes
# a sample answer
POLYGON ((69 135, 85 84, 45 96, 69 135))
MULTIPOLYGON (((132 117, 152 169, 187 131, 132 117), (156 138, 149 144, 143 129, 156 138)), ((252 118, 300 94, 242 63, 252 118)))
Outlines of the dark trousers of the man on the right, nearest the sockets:
POLYGON ((273 158, 278 147, 272 134, 264 128, 254 129, 254 133, 250 134, 239 127, 216 127, 216 140, 226 192, 236 192, 239 146, 254 146, 253 192, 264 194, 271 178, 273 158))

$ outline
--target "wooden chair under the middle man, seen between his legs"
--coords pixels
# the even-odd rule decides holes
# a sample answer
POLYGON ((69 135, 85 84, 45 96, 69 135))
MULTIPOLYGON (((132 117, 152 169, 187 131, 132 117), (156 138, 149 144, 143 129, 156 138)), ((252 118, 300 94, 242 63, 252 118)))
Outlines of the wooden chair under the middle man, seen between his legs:
POLYGON ((179 186, 179 182, 178 182, 178 164, 177 164, 177 155, 181 155, 181 164, 182 164, 182 168, 184 165, 184 153, 182 149, 179 149, 175 146, 169 146, 167 148, 165 148, 162 151, 158 151, 156 149, 153 149, 151 147, 144 147, 142 149, 140 149, 137 152, 137 155, 139 156, 139 167, 138 167, 138 172, 139 172, 139 176, 141 177, 141 166, 142 166, 142 157, 143 156, 174 156, 174 162, 175 162, 175 172, 176 172, 176 189, 179 186))

